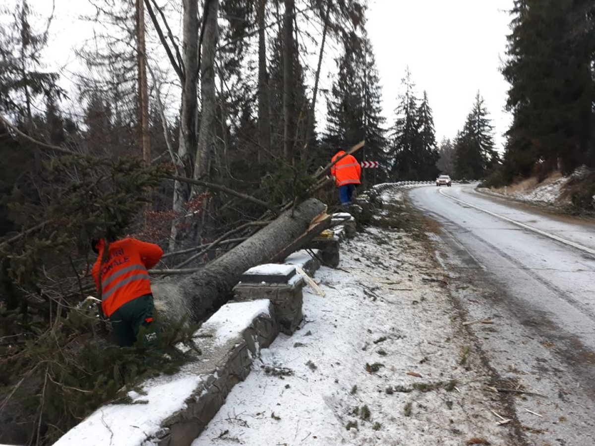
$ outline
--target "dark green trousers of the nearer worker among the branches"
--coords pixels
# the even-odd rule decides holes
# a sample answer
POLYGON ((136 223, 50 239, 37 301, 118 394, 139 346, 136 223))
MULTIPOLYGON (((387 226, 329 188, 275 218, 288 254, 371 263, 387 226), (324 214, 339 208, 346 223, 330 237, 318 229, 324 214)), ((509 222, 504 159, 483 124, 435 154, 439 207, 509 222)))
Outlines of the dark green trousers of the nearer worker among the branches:
POLYGON ((114 334, 120 347, 130 347, 136 343, 141 327, 155 331, 153 323, 153 295, 144 294, 127 301, 109 316, 114 334), (149 326, 151 328, 149 329, 149 326))

